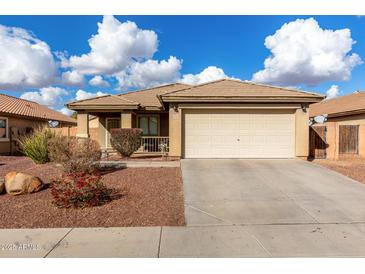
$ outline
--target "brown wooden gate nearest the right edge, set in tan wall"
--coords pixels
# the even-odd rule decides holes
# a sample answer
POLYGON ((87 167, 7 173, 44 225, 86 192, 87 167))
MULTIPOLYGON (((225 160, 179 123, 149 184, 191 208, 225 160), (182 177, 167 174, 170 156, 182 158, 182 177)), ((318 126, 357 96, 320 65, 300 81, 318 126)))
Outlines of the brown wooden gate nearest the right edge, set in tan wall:
POLYGON ((358 154, 359 153, 359 126, 340 125, 339 126, 339 153, 358 154))

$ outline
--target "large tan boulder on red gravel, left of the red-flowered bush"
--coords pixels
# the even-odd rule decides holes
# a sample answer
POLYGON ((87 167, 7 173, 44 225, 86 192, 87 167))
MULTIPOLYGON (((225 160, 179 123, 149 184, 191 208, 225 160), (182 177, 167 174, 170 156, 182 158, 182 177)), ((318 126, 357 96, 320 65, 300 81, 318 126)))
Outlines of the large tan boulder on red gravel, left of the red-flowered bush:
POLYGON ((12 171, 5 175, 5 189, 11 195, 37 192, 42 187, 42 181, 29 174, 12 171))

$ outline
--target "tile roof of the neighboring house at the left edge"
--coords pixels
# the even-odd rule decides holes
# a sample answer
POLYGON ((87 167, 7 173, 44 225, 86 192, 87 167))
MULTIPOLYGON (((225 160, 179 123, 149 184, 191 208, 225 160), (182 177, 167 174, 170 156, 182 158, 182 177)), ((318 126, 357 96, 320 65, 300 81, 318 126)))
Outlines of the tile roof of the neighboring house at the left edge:
POLYGON ((40 120, 56 120, 76 124, 76 120, 38 103, 0 94, 0 116, 19 115, 40 120))

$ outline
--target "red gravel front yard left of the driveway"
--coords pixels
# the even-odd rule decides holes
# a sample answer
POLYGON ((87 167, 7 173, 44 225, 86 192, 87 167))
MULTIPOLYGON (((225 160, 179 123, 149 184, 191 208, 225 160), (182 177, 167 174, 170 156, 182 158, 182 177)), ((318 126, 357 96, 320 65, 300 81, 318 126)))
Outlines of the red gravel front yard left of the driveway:
MULTIPOLYGON (((46 183, 61 175, 53 164, 0 156, 0 178, 9 171, 32 174, 46 183)), ((180 168, 126 168, 104 174, 103 181, 125 195, 99 207, 60 209, 52 204, 49 188, 20 196, 2 194, 0 228, 184 225, 180 168)))

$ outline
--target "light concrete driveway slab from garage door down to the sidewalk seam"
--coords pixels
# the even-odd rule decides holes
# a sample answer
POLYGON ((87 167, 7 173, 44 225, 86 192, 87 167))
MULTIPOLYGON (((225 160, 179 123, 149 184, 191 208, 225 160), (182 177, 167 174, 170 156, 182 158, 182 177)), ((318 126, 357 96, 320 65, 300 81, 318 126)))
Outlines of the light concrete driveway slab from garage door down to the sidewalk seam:
POLYGON ((365 222, 365 185, 301 160, 184 160, 188 225, 365 222))

